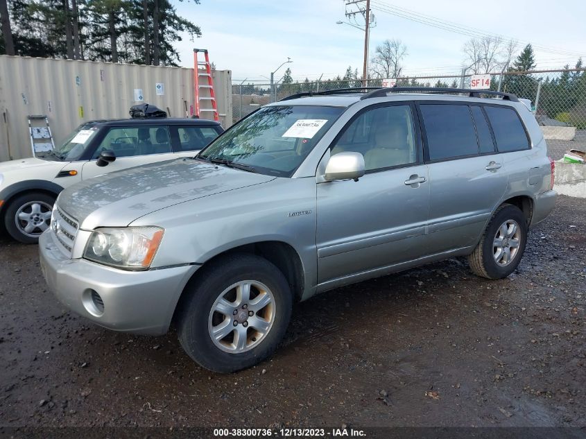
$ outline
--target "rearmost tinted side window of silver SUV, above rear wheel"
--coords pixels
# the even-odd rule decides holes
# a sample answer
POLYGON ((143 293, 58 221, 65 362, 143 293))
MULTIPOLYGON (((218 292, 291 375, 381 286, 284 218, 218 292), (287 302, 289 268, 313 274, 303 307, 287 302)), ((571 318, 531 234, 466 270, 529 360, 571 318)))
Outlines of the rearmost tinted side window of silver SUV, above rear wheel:
POLYGON ((529 148, 523 124, 515 110, 492 106, 486 106, 484 110, 492 126, 499 152, 506 153, 507 151, 529 148))

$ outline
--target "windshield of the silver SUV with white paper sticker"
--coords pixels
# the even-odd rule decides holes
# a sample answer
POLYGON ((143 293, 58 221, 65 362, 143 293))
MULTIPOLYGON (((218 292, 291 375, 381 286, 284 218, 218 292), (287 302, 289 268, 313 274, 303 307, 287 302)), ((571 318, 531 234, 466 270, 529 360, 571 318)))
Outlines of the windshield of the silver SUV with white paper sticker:
POLYGON ((291 177, 343 110, 313 105, 261 108, 227 130, 197 158, 291 177))

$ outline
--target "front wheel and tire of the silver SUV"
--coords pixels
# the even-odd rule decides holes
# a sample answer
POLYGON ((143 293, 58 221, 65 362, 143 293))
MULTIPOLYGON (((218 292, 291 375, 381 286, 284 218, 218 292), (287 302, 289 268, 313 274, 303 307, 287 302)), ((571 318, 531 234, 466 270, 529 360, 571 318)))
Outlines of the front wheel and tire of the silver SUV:
POLYGON ((184 294, 179 341, 191 359, 221 373, 250 368, 273 354, 293 307, 283 273, 266 259, 245 253, 227 255, 202 268, 184 294), (245 298, 247 283, 250 300, 240 300, 245 298), (216 330, 219 335, 214 341, 216 330))

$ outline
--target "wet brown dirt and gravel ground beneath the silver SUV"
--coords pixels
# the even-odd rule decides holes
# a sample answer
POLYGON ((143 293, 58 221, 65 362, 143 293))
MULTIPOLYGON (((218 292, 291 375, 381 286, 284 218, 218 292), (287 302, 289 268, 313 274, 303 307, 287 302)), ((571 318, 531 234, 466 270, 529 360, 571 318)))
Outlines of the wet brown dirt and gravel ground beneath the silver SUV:
POLYGON ((508 279, 450 259, 325 293, 232 375, 69 313, 37 246, 0 239, 0 279, 3 427, 586 426, 586 199, 558 198, 508 279))

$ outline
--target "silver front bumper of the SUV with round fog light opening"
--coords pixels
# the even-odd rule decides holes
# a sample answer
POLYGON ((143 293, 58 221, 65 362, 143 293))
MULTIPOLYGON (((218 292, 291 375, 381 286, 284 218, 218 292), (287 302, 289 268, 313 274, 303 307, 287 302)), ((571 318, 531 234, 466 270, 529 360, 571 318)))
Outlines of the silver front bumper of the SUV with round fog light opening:
POLYGON ((62 304, 98 325, 136 334, 167 332, 184 286, 198 268, 126 271, 69 259, 50 230, 40 236, 39 254, 43 276, 62 304), (101 297, 103 311, 94 306, 92 291, 101 297))

